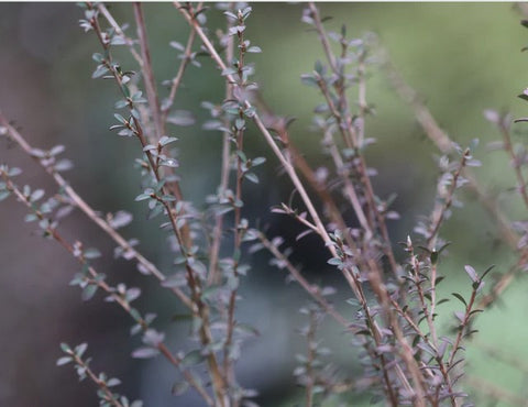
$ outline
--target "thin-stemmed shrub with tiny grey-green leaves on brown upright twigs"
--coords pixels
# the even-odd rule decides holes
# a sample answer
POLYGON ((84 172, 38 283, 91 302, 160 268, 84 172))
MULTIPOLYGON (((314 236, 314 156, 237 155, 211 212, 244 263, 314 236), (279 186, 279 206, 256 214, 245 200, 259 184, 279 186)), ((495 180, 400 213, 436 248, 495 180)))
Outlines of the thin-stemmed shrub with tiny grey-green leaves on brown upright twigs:
MULTIPOLYGON (((301 19, 315 33, 314 38, 326 56, 301 77, 302 82, 320 96, 321 103, 315 107, 314 128, 320 135, 321 154, 331 163, 329 167, 314 168, 289 138, 290 122, 270 109, 260 95, 258 85, 252 81, 255 72, 252 55, 262 50, 252 43, 246 32, 251 25, 251 7, 217 3, 206 8, 201 3, 175 2, 182 21, 189 26, 189 36, 185 45, 170 44, 180 53, 180 64, 174 78, 164 84, 167 90, 154 77, 152 58, 156 56, 150 51, 142 4, 132 6, 136 36, 127 34, 105 4, 87 2, 80 7, 81 29, 99 43, 99 50, 92 55, 92 78, 109 79, 108 86, 116 90, 116 110, 109 112, 116 123, 110 130, 122 136, 123 143, 138 146, 135 167, 142 191, 135 200, 144 205, 152 222, 160 223, 161 233, 169 235, 176 270, 162 272, 141 254, 136 240, 121 234, 119 229, 132 221, 129 212, 101 217, 72 188, 63 175, 72 167, 69 161, 61 157, 64 146, 48 150, 32 146, 2 114, 2 138, 36 161, 55 180, 57 190, 47 194, 23 185, 21 169, 2 165, 0 199, 14 197, 25 205, 25 221, 35 222, 43 237, 55 240, 78 261, 79 271, 72 285, 80 288, 82 299, 103 293, 107 301, 130 317, 132 334, 141 336, 143 342, 132 356, 165 358, 178 374, 172 389, 176 396, 196 392, 208 406, 254 405, 256 392, 241 385, 235 365, 240 359, 248 358, 243 343, 257 331, 237 316, 242 304, 240 279, 250 272, 252 253, 265 250, 272 255, 273 264, 298 283, 311 300, 301 309, 307 326, 299 332, 306 338, 306 352, 297 355, 297 367, 293 372, 306 389, 306 406, 321 404, 329 396, 351 403, 350 395, 358 392, 371 395, 373 404, 391 406, 469 404, 463 381, 463 345, 475 332, 477 314, 502 294, 517 273, 526 270, 528 228, 525 222, 510 224, 498 206, 486 197, 469 170, 479 166, 471 146, 459 146, 437 125, 375 38, 371 35, 351 38, 345 26, 340 32, 328 32, 318 8, 314 3, 304 6, 301 19), (223 31, 213 33, 207 29, 210 13, 223 13, 223 31), (121 66, 114 57, 118 47, 127 47, 136 65, 121 66), (213 64, 218 68, 218 80, 224 84, 223 99, 202 102, 211 116, 204 129, 221 134, 223 144, 218 152, 221 167, 217 190, 211 191, 206 202, 191 202, 180 186, 182 177, 191 175, 180 172, 174 148, 178 139, 167 135, 167 123, 193 120, 191 114, 174 112, 173 107, 186 69, 193 65, 199 68, 202 64, 213 64), (387 229, 387 221, 399 216, 391 209, 389 199, 376 195, 365 161, 365 151, 373 142, 365 128, 365 117, 374 113, 366 100, 366 77, 375 66, 385 70, 395 91, 413 107, 424 131, 442 154, 437 163, 440 174, 437 196, 431 197, 435 202, 431 213, 409 231, 400 246, 394 244, 387 229), (249 156, 244 138, 250 128, 265 141, 275 163, 266 163, 262 156, 249 156), (345 290, 350 297, 346 312, 332 305, 330 297, 337 288, 309 282, 290 261, 292 250, 284 246, 283 239, 267 235, 258 229, 255 219, 246 218, 244 188, 248 183, 258 184, 260 167, 277 163, 295 194, 287 204, 277 201, 271 210, 277 217, 287 216, 299 222, 304 231, 298 239, 306 234, 319 238, 327 250, 328 264, 344 282, 339 290, 345 290), (470 294, 453 293, 451 298, 446 298, 437 290, 443 278, 442 256, 449 245, 440 232, 453 207, 460 204, 457 191, 462 187, 481 198, 504 241, 518 254, 518 261, 486 286, 484 280, 492 266, 475 270, 466 265, 470 294), (353 210, 356 219, 353 227, 343 217, 337 197, 353 210), (206 209, 198 209, 202 207, 206 209), (156 328, 155 315, 136 308, 134 300, 141 295, 140 288, 107 280, 94 265, 94 260, 100 256, 99 250, 80 241, 68 241, 63 235, 59 223, 72 209, 84 212, 116 242, 116 256, 135 262, 140 273, 156 279, 158 289, 170 292, 174 301, 187 309, 193 350, 179 351, 178 343, 156 328), (397 260, 400 257, 403 262, 397 260), (458 311, 454 328, 446 333, 436 317, 439 306, 449 299, 458 301, 458 311), (361 360, 361 377, 345 377, 345 366, 330 364, 331 350, 323 346, 324 332, 319 330, 322 318, 333 320, 350 340, 351 352, 358 353, 361 360)), ((498 147, 512 157, 518 191, 528 207, 522 173, 526 151, 512 143, 512 119, 492 110, 486 111, 485 117, 503 136, 498 147)), ((183 133, 178 138, 185 136, 183 133)), ((142 406, 142 402, 129 400, 116 391, 121 383, 118 378, 91 370, 87 344, 63 343, 61 348, 64 355, 57 364, 73 365, 79 378, 94 382, 101 406, 142 406)))

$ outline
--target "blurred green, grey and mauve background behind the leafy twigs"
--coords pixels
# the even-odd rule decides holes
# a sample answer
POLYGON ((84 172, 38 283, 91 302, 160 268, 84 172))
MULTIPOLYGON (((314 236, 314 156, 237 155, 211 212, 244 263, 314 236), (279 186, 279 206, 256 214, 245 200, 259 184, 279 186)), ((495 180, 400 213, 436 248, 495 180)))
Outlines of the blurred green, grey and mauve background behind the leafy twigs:
MULTIPOLYGON (((346 24, 351 36, 365 31, 378 36, 388 50, 404 78, 425 98, 440 125, 461 145, 480 139, 474 156, 483 162, 476 176, 494 194, 505 211, 515 220, 526 219, 508 160, 503 153, 490 153, 486 143, 498 139, 497 132, 483 118, 483 110, 495 108, 524 114, 526 102, 516 95, 526 87, 526 54, 520 48, 528 42, 521 28, 521 13, 510 3, 320 3, 321 15, 331 15, 328 26, 338 31, 346 24)), ((256 64, 256 80, 273 110, 297 118, 292 138, 302 147, 310 163, 324 164, 320 155, 320 135, 309 130, 311 112, 321 102, 319 94, 300 84, 299 76, 312 69, 314 62, 323 57, 314 32, 300 22, 301 4, 254 3, 248 22, 248 37, 261 46, 262 54, 251 56, 256 64)), ((162 95, 164 79, 177 69, 175 50, 169 41, 184 43, 188 26, 170 3, 144 4, 154 70, 162 95)), ((120 22, 130 22, 129 35, 134 35, 130 4, 113 3, 111 12, 120 22)), ((1 3, 0 4, 0 109, 13 119, 22 133, 35 146, 65 144, 75 168, 67 176, 88 202, 103 211, 127 209, 136 221, 124 233, 138 237, 142 250, 164 270, 172 267, 165 250, 166 241, 157 226, 145 221, 145 208, 133 201, 139 193, 139 174, 133 161, 139 156, 138 144, 108 131, 113 121, 113 103, 118 99, 113 82, 90 78, 95 67, 91 54, 99 52, 94 35, 77 26, 80 9, 68 3, 1 3)), ((222 29, 221 13, 208 12, 211 28, 222 29)), ((135 69, 123 48, 118 58, 127 69, 135 69)), ((223 84, 211 61, 204 57, 200 69, 190 67, 185 75, 176 101, 177 109, 191 110, 197 123, 170 128, 179 138, 179 168, 188 199, 198 207, 218 185, 220 163, 219 134, 201 130, 208 112, 200 102, 220 102, 223 84)), ((370 68, 367 99, 376 114, 366 123, 367 134, 377 143, 370 147, 367 158, 377 169, 374 178, 377 194, 386 198, 397 193, 395 209, 402 220, 391 223, 396 243, 411 232, 419 216, 428 215, 433 204, 438 170, 436 147, 427 140, 411 110, 391 89, 388 80, 376 67, 370 68)), ((514 140, 527 133, 522 124, 514 127, 514 140)), ((268 208, 287 200, 292 186, 278 170, 277 162, 256 132, 249 135, 249 156, 267 155, 265 169, 258 175, 261 185, 248 185, 245 217, 268 226, 271 235, 285 234, 295 245, 294 258, 304 265, 310 278, 334 284, 343 282, 326 265, 326 253, 317 239, 295 243, 298 227, 268 208)), ((24 182, 53 186, 38 168, 6 141, 1 142, 0 158, 25 169, 24 182)), ((442 230, 451 241, 450 255, 441 271, 449 278, 444 294, 468 293, 470 284, 464 264, 482 271, 497 264, 497 273, 507 271, 513 256, 498 240, 486 213, 469 195, 461 195, 465 206, 455 209, 442 230)), ((129 355, 139 339, 129 339, 130 321, 112 305, 96 297, 81 304, 76 289, 67 284, 77 271, 75 261, 33 233, 23 223, 24 209, 10 200, 0 210, 0 405, 2 406, 94 406, 96 396, 90 385, 78 385, 74 372, 55 367, 58 343, 89 343, 96 371, 105 370, 124 382, 122 393, 140 397, 146 406, 199 405, 193 395, 174 398, 170 386, 175 380, 170 366, 163 360, 134 361, 129 355)), ((148 279, 139 276, 134 266, 111 260, 112 244, 96 227, 80 215, 68 219, 64 228, 70 238, 96 245, 107 254, 99 268, 114 282, 141 285, 145 295, 142 309, 158 312, 158 323, 169 333, 174 349, 186 346, 186 326, 174 322, 178 307, 172 297, 148 279)), ((397 251, 403 255, 400 251, 397 251)), ((253 270, 244 280, 244 300, 239 305, 239 320, 251 321, 262 332, 245 346, 239 363, 242 384, 258 389, 257 402, 263 406, 290 406, 301 403, 292 371, 294 354, 304 352, 305 343, 296 329, 305 322, 298 308, 307 298, 294 285, 285 285, 283 272, 271 268, 263 254, 252 257, 253 270)), ((513 367, 504 360, 528 359, 526 342, 528 323, 526 309, 528 286, 524 279, 510 287, 499 306, 487 310, 477 320, 480 334, 468 350, 472 386, 466 389, 476 405, 516 405, 494 400, 485 389, 493 386, 527 399, 528 366, 513 367), (492 358, 490 349, 499 352, 492 358)), ((339 289, 336 302, 344 312, 344 299, 350 293, 339 289)), ((442 305, 446 329, 453 322, 454 301, 442 305)), ((320 334, 334 350, 343 367, 360 374, 349 343, 330 321, 320 334)), ((527 363, 528 364, 528 363, 527 363)), ((369 404, 369 397, 354 396, 350 405, 369 404)), ((332 404, 329 404, 332 405, 332 404)))

